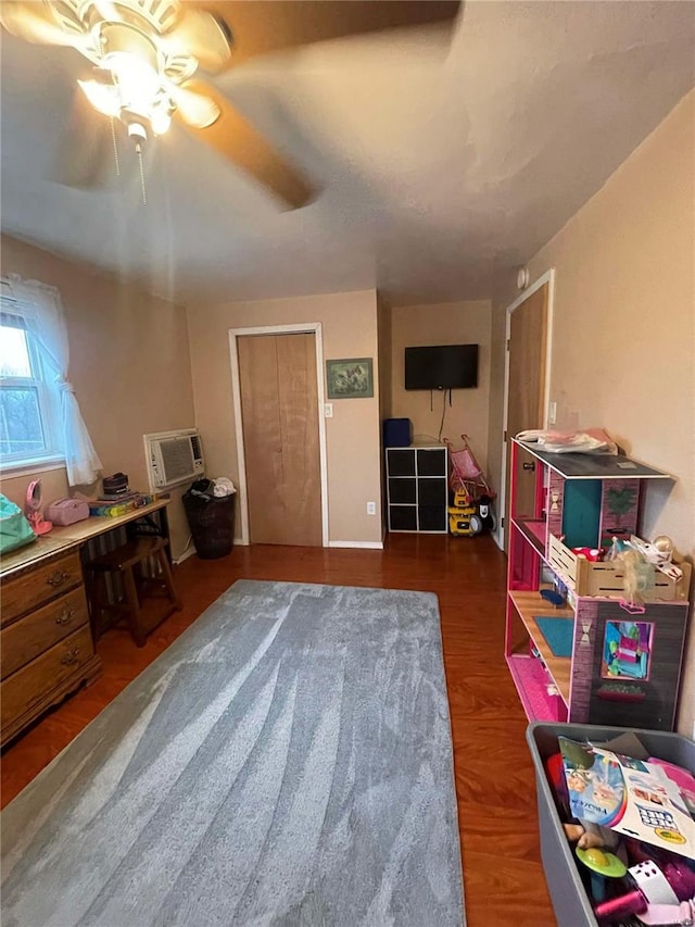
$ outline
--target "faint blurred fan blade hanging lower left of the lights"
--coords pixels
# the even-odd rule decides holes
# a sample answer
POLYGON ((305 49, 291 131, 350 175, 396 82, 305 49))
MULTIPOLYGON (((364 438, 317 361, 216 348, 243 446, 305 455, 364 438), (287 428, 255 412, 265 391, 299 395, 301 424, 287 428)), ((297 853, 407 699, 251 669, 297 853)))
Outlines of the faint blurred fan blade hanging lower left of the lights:
POLYGON ((51 179, 65 187, 94 189, 105 187, 115 174, 111 123, 91 108, 81 90, 76 90, 51 179))

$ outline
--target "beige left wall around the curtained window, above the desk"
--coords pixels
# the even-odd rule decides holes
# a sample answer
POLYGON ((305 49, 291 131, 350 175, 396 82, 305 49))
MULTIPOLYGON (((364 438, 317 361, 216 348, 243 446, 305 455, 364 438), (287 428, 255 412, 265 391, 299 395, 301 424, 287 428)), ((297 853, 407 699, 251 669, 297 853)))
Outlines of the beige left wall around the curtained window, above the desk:
MULTIPOLYGON (((123 471, 147 491, 142 436, 194 424, 186 310, 7 236, 2 273, 60 290, 70 379, 104 474, 123 471)), ((46 503, 68 494, 64 468, 40 477, 46 503)), ((3 493, 21 504, 29 478, 3 478, 3 493)), ((188 537, 180 494, 169 505, 175 558, 188 537)))

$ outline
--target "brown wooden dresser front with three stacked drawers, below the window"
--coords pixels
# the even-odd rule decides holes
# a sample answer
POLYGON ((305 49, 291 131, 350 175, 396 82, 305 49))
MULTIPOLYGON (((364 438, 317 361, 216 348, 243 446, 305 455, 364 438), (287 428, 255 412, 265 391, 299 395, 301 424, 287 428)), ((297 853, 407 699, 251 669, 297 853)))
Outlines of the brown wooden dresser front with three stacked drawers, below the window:
POLYGON ((5 743, 81 682, 101 673, 79 550, 29 562, 0 592, 0 740, 5 743))

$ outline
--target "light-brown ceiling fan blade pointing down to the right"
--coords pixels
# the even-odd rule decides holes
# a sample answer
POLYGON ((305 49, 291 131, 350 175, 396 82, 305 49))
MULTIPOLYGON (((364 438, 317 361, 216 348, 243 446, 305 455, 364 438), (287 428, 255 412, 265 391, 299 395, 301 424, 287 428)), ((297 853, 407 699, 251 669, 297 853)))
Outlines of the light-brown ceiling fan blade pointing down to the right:
MULTIPOLYGON (((228 100, 214 91, 210 96, 219 107, 219 118, 205 129, 190 126, 189 130, 193 135, 273 190, 278 199, 287 203, 288 209, 300 209, 314 199, 317 191, 268 145, 261 133, 248 123, 228 100)), ((178 113, 175 116, 178 116, 178 113)))

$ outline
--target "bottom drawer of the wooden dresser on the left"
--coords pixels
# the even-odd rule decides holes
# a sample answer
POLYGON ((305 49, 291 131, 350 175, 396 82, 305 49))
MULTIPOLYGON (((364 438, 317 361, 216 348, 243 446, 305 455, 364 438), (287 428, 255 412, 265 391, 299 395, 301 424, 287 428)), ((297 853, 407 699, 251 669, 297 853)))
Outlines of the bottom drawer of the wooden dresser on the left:
POLYGON ((53 689, 77 674, 91 661, 94 649, 89 626, 64 638, 22 669, 17 669, 0 686, 0 715, 3 730, 34 705, 41 702, 53 689))

